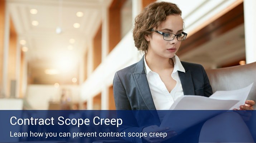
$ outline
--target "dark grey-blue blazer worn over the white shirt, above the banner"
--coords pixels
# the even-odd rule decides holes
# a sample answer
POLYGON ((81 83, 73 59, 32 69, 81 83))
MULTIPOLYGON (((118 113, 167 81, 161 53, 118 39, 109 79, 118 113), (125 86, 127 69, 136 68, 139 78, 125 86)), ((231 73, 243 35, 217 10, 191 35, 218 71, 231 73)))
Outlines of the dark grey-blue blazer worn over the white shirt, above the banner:
MULTIPOLYGON (((203 66, 181 63, 185 73, 178 73, 184 95, 212 95, 212 87, 203 66)), ((115 73, 113 91, 117 110, 156 110, 144 70, 144 57, 115 73)))

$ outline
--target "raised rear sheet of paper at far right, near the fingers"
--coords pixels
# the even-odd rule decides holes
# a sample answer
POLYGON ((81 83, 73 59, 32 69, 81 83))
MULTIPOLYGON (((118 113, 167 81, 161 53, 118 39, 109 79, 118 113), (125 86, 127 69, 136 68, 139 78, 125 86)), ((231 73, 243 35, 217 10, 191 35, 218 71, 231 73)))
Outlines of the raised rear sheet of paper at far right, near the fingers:
POLYGON ((216 91, 212 94, 209 98, 211 99, 219 99, 219 100, 238 100, 237 104, 232 106, 230 110, 233 108, 238 108, 240 105, 245 104, 245 101, 249 95, 249 92, 252 88, 252 84, 248 85, 245 88, 237 89, 237 90, 230 90, 230 91, 216 91))

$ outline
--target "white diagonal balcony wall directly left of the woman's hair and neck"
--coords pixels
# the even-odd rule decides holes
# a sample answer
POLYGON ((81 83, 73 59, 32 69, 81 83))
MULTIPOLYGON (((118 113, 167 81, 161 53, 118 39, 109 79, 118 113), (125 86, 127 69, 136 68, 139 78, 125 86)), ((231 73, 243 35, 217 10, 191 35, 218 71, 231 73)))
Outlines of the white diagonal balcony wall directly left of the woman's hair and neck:
POLYGON ((100 92, 102 87, 112 85, 115 72, 135 63, 137 59, 134 59, 134 55, 138 54, 137 49, 134 48, 132 33, 128 32, 115 49, 108 54, 106 60, 81 85, 81 98, 89 99, 100 92))

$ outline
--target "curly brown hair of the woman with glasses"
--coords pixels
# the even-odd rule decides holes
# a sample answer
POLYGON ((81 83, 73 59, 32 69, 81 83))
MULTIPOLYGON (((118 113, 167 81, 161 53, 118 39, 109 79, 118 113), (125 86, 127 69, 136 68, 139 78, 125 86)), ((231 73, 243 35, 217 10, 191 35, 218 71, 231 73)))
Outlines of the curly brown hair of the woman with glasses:
POLYGON ((170 2, 153 2, 135 18, 133 38, 138 50, 148 51, 148 41, 144 36, 150 35, 151 29, 158 27, 168 15, 182 15, 182 11, 170 2))

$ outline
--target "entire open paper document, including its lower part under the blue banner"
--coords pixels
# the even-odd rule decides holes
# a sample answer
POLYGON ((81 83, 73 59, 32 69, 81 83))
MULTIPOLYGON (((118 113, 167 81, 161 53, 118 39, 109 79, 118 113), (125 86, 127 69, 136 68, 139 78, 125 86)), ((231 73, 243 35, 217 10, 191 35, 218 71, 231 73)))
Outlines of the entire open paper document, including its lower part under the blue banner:
POLYGON ((170 110, 174 111, 170 112, 163 118, 160 127, 169 127, 171 130, 177 133, 182 133, 189 127, 197 125, 202 121, 206 121, 209 118, 223 113, 223 110, 239 108, 240 105, 245 104, 252 85, 253 83, 238 90, 216 91, 210 97, 185 95, 177 99, 170 107, 170 110), (181 111, 178 112, 178 110, 214 111, 205 111, 205 114, 195 111, 193 114, 187 114, 181 111))

